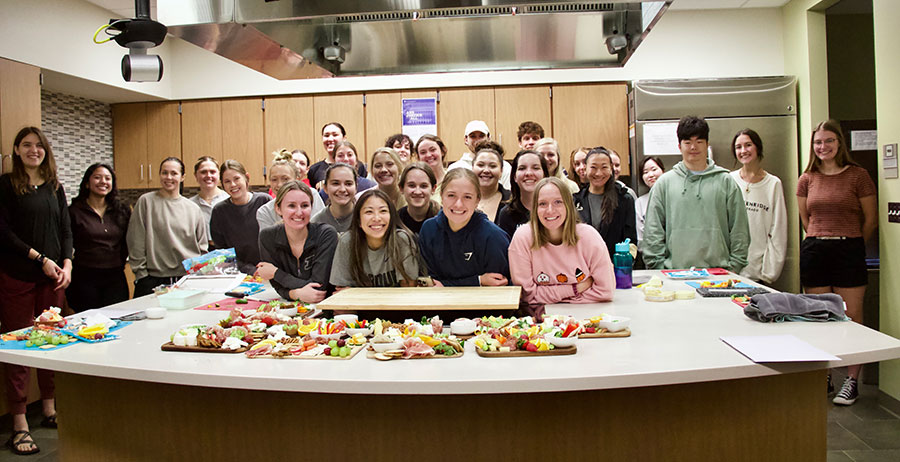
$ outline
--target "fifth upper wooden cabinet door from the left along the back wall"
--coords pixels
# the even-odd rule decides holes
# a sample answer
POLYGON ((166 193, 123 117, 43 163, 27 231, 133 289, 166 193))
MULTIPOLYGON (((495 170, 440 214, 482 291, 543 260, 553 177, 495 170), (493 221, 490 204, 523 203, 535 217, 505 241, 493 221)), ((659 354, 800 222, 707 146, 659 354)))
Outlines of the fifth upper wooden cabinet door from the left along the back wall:
POLYGON ((313 119, 312 96, 288 96, 266 98, 265 162, 272 163, 272 153, 281 149, 302 149, 310 158, 316 144, 322 144, 317 136, 313 119))

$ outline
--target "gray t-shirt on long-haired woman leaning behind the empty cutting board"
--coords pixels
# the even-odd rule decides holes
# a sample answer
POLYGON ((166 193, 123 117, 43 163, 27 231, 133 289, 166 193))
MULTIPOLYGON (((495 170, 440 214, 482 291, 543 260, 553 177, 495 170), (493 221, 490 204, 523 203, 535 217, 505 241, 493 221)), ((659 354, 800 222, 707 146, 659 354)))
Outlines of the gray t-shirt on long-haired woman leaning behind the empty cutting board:
MULTIPOLYGON (((400 255, 403 269, 411 279, 419 276, 419 258, 413 251, 414 241, 405 231, 397 230, 396 239, 400 243, 400 255)), ((336 287, 356 286, 353 275, 350 273, 350 239, 351 233, 344 233, 338 240, 337 250, 334 252, 334 262, 331 265, 331 283, 336 287)), ((368 249, 366 259, 363 261, 363 271, 369 275, 373 287, 399 287, 403 280, 403 273, 394 268, 385 250, 385 246, 377 250, 368 249)))

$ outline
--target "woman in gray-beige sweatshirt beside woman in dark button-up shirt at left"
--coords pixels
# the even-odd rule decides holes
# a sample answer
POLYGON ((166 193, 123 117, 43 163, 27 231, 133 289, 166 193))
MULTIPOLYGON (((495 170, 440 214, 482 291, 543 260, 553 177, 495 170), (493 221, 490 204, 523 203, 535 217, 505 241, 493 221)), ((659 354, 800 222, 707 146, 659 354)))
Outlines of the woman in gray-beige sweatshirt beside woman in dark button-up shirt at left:
POLYGON ((128 264, 135 298, 185 274, 182 260, 206 253, 207 226, 200 207, 178 193, 184 163, 169 157, 159 165, 161 188, 141 196, 128 222, 128 264))

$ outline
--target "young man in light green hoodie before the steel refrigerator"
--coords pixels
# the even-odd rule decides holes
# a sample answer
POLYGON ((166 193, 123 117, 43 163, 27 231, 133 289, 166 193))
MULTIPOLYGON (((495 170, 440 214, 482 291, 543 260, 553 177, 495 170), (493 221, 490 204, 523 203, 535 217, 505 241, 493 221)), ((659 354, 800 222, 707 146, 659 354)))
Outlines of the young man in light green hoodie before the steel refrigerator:
POLYGON ((750 228, 744 198, 728 170, 707 158, 709 125, 694 116, 678 122, 682 161, 657 180, 641 243, 650 269, 747 264, 750 228))

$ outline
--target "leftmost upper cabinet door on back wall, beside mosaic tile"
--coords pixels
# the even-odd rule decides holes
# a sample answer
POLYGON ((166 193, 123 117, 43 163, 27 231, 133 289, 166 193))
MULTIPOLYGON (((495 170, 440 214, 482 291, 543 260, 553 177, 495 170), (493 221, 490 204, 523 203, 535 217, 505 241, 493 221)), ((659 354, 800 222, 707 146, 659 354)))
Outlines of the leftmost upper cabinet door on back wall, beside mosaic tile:
POLYGON ((114 104, 112 117, 116 186, 147 188, 147 103, 114 104))

